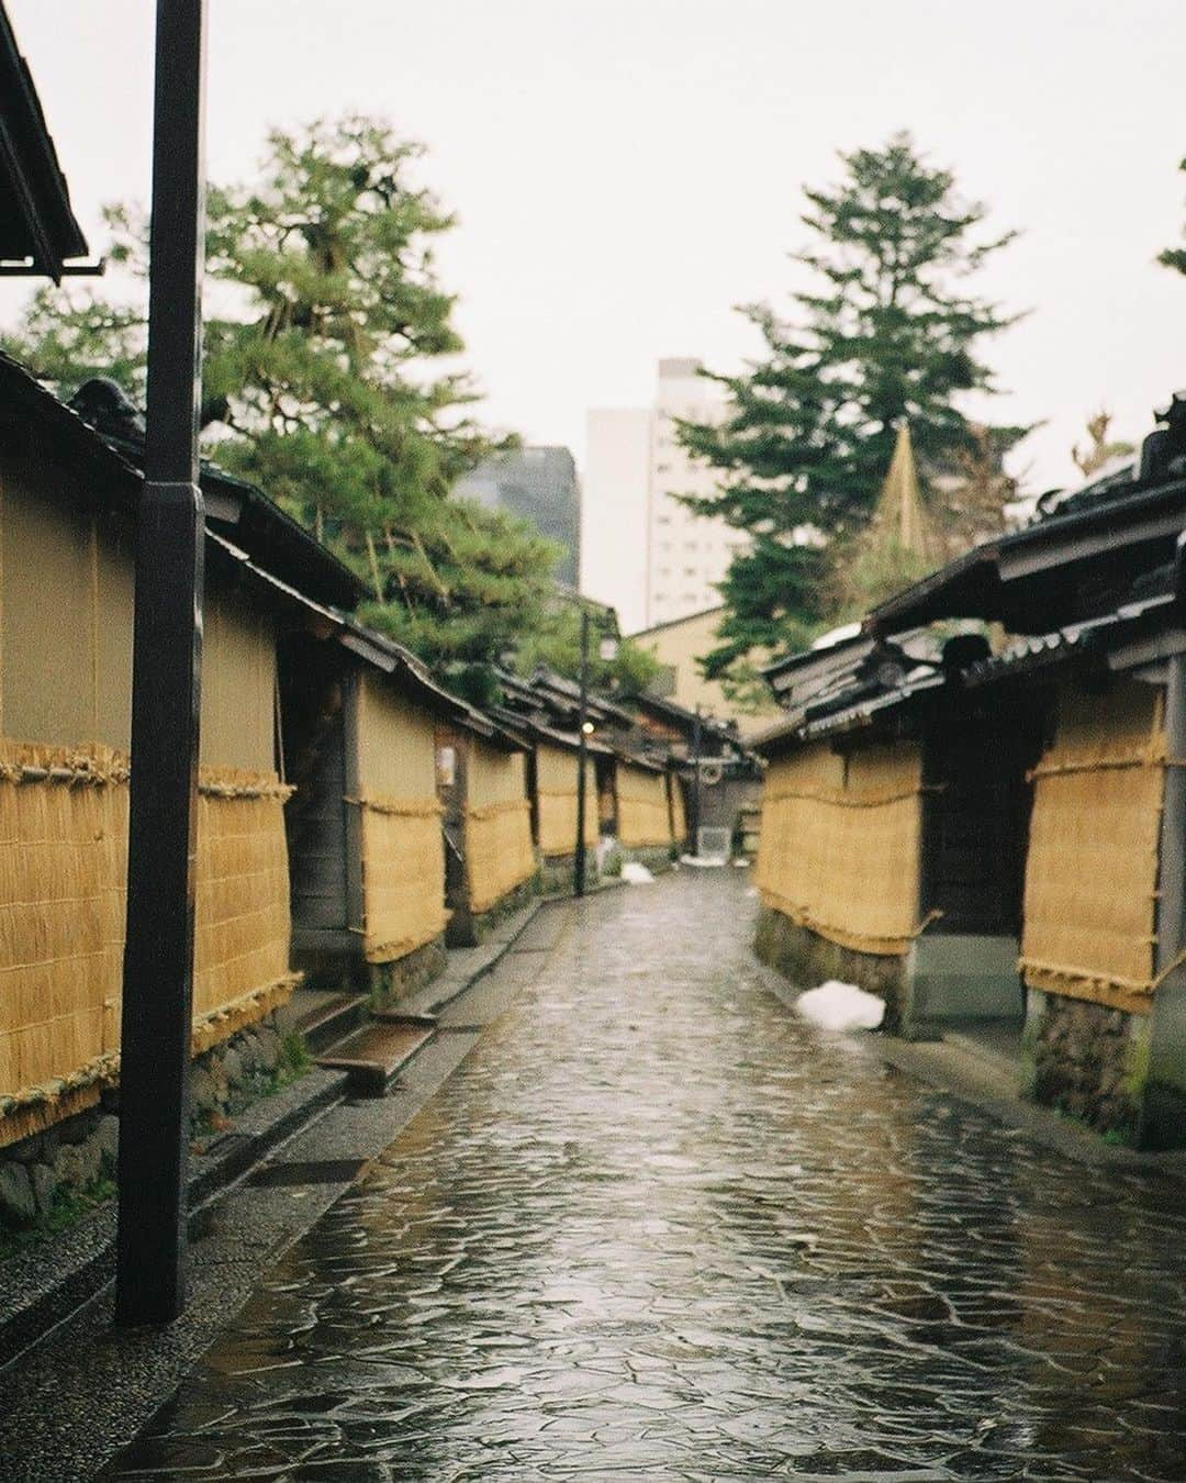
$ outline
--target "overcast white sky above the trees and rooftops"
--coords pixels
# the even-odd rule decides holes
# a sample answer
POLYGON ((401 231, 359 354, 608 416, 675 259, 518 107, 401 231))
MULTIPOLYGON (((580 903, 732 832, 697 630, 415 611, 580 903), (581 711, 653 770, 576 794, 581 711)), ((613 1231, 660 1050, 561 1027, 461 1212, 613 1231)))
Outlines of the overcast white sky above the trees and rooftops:
MULTIPOLYGON (((92 246, 148 196, 151 0, 7 0, 92 246)), ((990 351, 995 415, 1073 478, 1101 400, 1133 439, 1186 386, 1183 0, 211 0, 209 165, 271 123, 362 108, 431 150, 439 254, 488 415, 583 458, 590 406, 660 356, 732 369, 732 305, 778 304, 801 185, 909 128, 1021 240, 984 288, 1030 317, 990 351)), ((0 285, 0 319, 22 289, 0 285)))

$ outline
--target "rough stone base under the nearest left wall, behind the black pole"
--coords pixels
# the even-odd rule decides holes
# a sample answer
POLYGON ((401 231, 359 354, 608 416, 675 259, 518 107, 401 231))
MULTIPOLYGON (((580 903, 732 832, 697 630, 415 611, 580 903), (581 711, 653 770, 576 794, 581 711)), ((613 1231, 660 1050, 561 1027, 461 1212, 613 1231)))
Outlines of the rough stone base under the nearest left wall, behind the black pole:
MULTIPOLYGON (((271 1090, 280 1059, 274 1013, 196 1056, 190 1081, 194 1136, 209 1133, 221 1118, 271 1090)), ((119 1139, 119 1089, 114 1089, 98 1108, 0 1149, 0 1228, 34 1225, 62 1197, 113 1179, 119 1139)))

